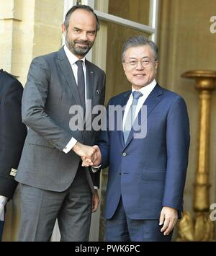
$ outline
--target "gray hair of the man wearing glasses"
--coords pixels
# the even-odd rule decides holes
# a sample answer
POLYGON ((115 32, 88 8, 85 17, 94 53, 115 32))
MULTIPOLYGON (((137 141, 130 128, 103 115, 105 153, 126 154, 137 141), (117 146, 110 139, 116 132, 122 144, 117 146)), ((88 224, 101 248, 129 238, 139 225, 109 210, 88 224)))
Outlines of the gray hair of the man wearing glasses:
POLYGON ((149 45, 153 50, 155 61, 158 61, 158 46, 153 41, 149 40, 145 35, 135 35, 128 38, 122 46, 122 62, 125 62, 125 52, 132 47, 149 45))

